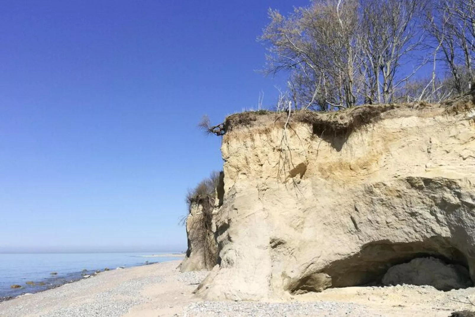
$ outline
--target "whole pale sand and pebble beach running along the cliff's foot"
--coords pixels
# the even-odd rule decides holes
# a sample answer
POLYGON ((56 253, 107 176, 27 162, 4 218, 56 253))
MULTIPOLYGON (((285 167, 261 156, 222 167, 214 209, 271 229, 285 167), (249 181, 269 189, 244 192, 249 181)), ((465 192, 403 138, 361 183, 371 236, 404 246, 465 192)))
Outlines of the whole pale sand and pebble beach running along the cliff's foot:
MULTIPOLYGON (((437 316, 471 305, 474 288, 440 292, 430 287, 328 289, 291 303, 204 302, 192 291, 206 272, 179 273, 180 261, 118 269, 0 303, 2 317, 158 316, 437 316), (467 300, 468 297, 468 300, 467 300)), ((475 307, 474 307, 475 308, 475 307)))

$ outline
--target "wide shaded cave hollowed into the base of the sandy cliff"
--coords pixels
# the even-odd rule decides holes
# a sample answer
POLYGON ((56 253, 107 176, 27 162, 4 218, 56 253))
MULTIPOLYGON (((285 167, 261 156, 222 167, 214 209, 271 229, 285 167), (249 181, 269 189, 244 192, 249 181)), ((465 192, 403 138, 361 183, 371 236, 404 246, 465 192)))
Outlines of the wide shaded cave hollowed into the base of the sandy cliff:
MULTIPOLYGON (((473 286, 466 257, 441 237, 410 243, 374 241, 359 253, 333 262, 319 276, 322 273, 333 288, 412 284, 448 291, 473 286)), ((322 287, 321 279, 315 282, 315 274, 310 274, 290 285, 289 291, 301 294, 322 287)))

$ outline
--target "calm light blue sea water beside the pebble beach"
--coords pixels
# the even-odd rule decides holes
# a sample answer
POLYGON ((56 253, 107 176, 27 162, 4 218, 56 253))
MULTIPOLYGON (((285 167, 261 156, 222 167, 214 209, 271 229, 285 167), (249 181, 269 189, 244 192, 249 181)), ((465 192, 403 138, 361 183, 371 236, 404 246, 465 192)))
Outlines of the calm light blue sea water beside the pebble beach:
POLYGON ((180 257, 143 257, 163 253, 0 253, 0 299, 35 293, 105 268, 133 267, 180 257), (56 272, 56 275, 51 273, 56 272), (26 282, 32 281, 32 286, 26 282), (38 285, 44 283, 45 285, 38 285), (22 288, 10 288, 17 284, 22 288))

